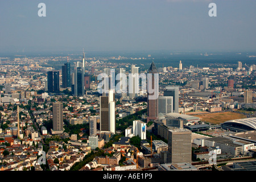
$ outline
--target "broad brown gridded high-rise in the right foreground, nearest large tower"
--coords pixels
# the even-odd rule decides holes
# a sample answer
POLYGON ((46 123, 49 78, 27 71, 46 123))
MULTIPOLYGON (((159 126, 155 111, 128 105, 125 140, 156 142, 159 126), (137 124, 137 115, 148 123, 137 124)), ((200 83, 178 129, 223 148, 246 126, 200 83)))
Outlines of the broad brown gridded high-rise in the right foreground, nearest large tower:
POLYGON ((179 129, 168 130, 168 163, 191 163, 191 135, 191 130, 183 129, 183 122, 179 129))

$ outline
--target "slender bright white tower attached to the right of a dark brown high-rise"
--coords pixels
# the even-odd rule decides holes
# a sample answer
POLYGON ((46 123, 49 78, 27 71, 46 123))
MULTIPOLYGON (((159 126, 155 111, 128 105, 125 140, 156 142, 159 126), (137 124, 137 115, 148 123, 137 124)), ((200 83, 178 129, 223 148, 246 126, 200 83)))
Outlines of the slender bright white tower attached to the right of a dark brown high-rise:
POLYGON ((109 90, 109 131, 115 134, 115 101, 113 90, 109 90))

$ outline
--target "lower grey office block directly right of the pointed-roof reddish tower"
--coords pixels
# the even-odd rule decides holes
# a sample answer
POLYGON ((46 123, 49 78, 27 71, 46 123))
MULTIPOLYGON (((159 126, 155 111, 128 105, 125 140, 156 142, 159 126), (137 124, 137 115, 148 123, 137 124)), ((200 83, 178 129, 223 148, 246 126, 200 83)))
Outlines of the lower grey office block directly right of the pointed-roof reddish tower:
POLYGON ((172 113, 173 97, 172 96, 159 96, 158 97, 158 114, 172 113))

